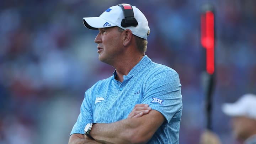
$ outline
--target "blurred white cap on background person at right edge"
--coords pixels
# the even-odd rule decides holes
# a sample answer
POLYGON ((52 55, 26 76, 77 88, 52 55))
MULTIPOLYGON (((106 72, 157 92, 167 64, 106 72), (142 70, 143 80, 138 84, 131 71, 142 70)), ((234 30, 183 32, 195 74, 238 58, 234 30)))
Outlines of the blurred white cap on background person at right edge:
POLYGON ((256 119, 256 95, 242 95, 235 103, 224 103, 222 111, 228 116, 247 116, 256 119))

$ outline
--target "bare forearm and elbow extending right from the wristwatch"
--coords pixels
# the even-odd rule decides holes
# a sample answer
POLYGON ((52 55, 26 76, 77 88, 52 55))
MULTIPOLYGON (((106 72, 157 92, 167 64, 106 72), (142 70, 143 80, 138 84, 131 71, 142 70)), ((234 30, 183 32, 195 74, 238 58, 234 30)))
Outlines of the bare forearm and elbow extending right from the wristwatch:
POLYGON ((146 143, 164 121, 162 115, 154 115, 156 111, 150 113, 153 114, 151 116, 161 118, 156 122, 150 114, 146 114, 140 118, 123 119, 114 123, 97 123, 92 127, 90 135, 96 141, 106 144, 146 143))

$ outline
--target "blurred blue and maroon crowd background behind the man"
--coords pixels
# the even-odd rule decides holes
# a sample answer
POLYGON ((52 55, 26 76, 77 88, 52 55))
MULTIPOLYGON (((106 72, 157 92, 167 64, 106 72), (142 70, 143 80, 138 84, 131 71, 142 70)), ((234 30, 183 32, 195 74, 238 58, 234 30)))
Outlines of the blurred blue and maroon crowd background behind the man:
POLYGON ((206 128, 200 44, 206 2, 216 15, 213 130, 222 143, 239 144, 221 105, 256 94, 255 0, 1 0, 0 143, 68 143, 84 92, 114 71, 98 60, 98 31, 85 28, 82 17, 129 3, 149 21, 146 55, 180 75, 180 144, 198 144, 206 128))

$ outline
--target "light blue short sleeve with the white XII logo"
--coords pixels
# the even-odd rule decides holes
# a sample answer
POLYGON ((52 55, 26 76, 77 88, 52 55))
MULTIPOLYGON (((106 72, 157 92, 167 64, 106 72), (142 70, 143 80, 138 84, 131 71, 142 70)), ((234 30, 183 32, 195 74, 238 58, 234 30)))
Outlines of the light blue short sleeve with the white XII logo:
POLYGON ((146 81, 142 103, 162 113, 168 123, 172 118, 180 119, 182 95, 178 73, 165 66, 153 70, 146 81))

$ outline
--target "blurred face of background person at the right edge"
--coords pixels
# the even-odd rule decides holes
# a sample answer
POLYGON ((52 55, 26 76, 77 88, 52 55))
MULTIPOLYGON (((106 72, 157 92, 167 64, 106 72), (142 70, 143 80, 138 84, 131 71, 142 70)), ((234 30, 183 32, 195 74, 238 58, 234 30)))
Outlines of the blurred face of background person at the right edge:
POLYGON ((244 141, 255 132, 256 120, 245 116, 233 117, 233 134, 238 140, 244 141))

